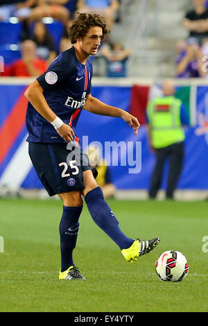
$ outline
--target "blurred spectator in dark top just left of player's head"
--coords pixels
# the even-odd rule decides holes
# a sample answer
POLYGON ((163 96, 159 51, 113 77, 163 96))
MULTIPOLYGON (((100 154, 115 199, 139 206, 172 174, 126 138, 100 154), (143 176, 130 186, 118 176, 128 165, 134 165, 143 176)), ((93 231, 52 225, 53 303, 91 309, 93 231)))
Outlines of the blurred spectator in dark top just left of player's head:
POLYGON ((47 60, 48 65, 51 65, 51 62, 55 59, 57 53, 55 51, 53 38, 42 21, 35 23, 31 40, 33 40, 37 46, 37 57, 47 60))

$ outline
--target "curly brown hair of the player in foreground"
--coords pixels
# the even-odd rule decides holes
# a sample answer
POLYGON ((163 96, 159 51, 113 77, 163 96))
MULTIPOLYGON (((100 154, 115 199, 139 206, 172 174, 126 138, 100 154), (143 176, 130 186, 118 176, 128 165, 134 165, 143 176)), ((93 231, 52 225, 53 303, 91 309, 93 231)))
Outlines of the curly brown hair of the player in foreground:
POLYGON ((69 27, 69 39, 71 44, 76 43, 79 38, 83 38, 89 31, 89 28, 100 26, 103 29, 103 37, 110 33, 106 27, 105 19, 97 14, 78 13, 78 17, 69 27))

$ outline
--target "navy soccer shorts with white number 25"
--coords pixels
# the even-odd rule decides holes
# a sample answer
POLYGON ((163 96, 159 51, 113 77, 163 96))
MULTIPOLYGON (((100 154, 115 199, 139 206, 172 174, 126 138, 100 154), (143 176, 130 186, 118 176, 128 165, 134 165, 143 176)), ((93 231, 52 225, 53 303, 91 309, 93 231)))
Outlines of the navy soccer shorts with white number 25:
POLYGON ((29 155, 35 171, 49 196, 85 189, 83 172, 96 169, 89 165, 83 151, 73 144, 29 143, 29 155))

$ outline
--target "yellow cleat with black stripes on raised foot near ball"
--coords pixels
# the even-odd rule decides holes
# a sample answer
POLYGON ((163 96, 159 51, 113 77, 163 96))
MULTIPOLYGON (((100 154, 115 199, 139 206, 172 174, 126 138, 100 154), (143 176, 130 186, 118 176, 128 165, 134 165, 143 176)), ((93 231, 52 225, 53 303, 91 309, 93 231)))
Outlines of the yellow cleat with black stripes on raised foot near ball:
POLYGON ((159 238, 151 240, 137 239, 132 243, 132 246, 130 246, 130 248, 121 250, 121 253, 124 256, 125 260, 130 261, 130 263, 132 263, 134 260, 137 260, 138 257, 146 255, 153 249, 155 249, 159 241, 159 238))

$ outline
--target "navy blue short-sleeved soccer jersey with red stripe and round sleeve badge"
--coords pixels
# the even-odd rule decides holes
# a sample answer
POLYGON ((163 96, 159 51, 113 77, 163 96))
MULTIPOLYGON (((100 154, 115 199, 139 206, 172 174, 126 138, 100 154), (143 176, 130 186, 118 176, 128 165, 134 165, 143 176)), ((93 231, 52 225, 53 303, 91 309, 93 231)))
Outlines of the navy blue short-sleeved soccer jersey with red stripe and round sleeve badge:
MULTIPOLYGON (((52 62, 47 71, 37 78, 44 89, 49 107, 73 130, 80 112, 91 93, 92 64, 87 60, 83 65, 76 57, 75 49, 64 51, 52 62)), ((42 117, 28 102, 26 127, 29 142, 65 143, 55 128, 42 117)))

